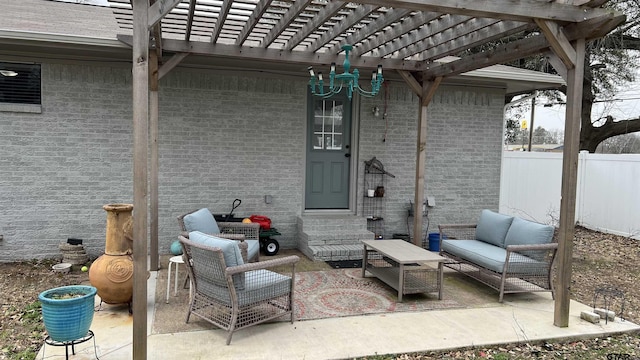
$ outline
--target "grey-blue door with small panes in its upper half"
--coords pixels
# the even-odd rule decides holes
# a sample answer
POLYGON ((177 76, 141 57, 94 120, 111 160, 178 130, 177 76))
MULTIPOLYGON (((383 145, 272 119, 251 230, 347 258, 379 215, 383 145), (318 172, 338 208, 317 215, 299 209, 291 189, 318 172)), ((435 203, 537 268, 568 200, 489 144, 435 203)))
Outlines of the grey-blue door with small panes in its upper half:
POLYGON ((309 94, 305 209, 348 209, 351 101, 309 94))

